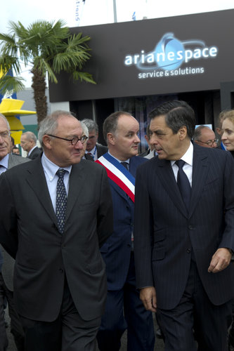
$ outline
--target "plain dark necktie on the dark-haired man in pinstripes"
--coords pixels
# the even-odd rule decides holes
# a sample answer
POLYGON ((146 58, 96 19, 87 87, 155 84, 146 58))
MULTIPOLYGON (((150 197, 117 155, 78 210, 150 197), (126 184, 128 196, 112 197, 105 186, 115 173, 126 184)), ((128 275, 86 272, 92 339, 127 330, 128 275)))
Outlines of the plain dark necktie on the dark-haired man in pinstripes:
POLYGON ((191 187, 190 187, 188 177, 186 176, 186 173, 184 173, 183 171, 183 165, 185 163, 186 162, 183 161, 182 159, 179 159, 178 161, 176 161, 176 164, 178 166, 177 185, 178 185, 178 189, 181 192, 183 202, 185 203, 186 208, 188 210, 189 204, 190 204, 191 187))

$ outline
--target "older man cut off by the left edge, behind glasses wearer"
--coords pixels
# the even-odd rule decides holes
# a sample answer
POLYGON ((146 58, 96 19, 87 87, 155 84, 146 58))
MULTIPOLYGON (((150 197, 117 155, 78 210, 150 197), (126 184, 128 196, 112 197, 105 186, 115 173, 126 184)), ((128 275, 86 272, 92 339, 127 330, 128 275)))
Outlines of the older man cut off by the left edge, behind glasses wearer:
MULTIPOLYGON (((4 173, 9 168, 17 166, 18 164, 30 161, 25 157, 20 157, 11 154, 11 136, 10 126, 6 117, 0 114, 0 173, 4 173)), ((5 203, 6 199, 2 199, 5 203)), ((0 245, 0 258, 3 256, 4 263, 0 270, 0 351, 5 350, 8 345, 6 338, 6 330, 4 325, 4 299, 8 302, 8 312, 11 317, 11 333, 14 336, 15 345, 18 351, 24 350, 24 333, 18 317, 18 313, 15 311, 13 303, 13 267, 15 261, 11 256, 6 253, 3 247, 0 245)))

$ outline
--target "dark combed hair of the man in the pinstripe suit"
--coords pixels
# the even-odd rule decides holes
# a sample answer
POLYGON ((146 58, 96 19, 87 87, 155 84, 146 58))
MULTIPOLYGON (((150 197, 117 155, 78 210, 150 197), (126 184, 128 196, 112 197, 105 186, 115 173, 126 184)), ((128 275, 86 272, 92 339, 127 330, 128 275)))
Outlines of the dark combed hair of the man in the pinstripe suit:
POLYGON ((174 134, 178 133, 181 127, 186 126, 188 137, 193 138, 196 118, 192 107, 187 102, 181 100, 164 102, 152 110, 148 117, 154 119, 159 116, 165 116, 166 124, 174 134))

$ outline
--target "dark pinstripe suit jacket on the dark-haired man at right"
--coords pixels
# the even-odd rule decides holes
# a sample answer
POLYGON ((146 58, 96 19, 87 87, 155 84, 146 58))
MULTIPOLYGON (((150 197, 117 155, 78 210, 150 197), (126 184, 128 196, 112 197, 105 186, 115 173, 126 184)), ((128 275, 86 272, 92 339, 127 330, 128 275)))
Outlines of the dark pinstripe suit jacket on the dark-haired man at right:
POLYGON ((170 161, 154 157, 138 168, 135 264, 138 288, 155 286, 157 305, 174 308, 186 287, 191 253, 214 305, 234 296, 233 265, 208 273, 220 247, 234 249, 234 162, 228 152, 194 145, 189 212, 170 161))

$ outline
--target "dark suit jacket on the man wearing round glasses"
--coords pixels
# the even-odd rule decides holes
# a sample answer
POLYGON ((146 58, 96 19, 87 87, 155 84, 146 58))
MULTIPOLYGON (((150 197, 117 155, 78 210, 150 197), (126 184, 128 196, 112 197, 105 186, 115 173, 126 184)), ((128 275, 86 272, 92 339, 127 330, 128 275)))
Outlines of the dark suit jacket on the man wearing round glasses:
POLYGON ((94 162, 72 166, 63 235, 48 192, 41 158, 0 177, 0 242, 15 257, 14 299, 22 316, 58 317, 65 275, 82 319, 103 313, 106 296, 101 246, 112 232, 112 202, 105 169, 94 162))

